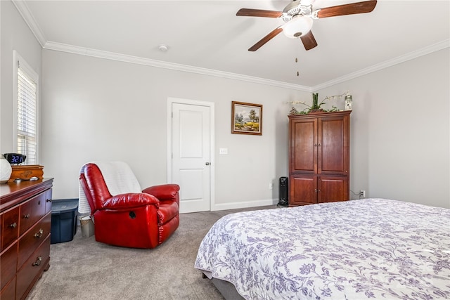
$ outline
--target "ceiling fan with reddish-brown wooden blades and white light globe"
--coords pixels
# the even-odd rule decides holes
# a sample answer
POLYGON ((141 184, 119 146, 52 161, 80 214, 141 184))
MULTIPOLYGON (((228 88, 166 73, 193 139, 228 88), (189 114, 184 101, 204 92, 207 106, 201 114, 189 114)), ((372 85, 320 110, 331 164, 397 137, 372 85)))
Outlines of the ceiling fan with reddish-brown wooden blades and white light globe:
POLYGON ((316 39, 311 32, 313 19, 335 17, 338 15, 353 15, 356 13, 370 13, 375 8, 377 1, 363 1, 352 4, 343 4, 320 8, 313 11, 311 2, 314 0, 293 0, 283 11, 266 11, 263 9, 240 8, 236 15, 247 17, 283 18, 284 25, 272 30, 269 34, 251 46, 248 51, 257 51, 261 46, 284 32, 287 37, 302 40, 306 50, 317 46, 316 39))

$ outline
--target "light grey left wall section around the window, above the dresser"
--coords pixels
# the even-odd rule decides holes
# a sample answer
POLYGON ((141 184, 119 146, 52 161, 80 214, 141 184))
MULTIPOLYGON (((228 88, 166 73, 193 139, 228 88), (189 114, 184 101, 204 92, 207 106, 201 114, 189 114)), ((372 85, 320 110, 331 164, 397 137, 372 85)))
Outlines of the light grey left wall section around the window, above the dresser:
POLYGON ((0 1, 0 153, 13 152, 13 50, 41 77, 41 45, 11 1, 0 1))

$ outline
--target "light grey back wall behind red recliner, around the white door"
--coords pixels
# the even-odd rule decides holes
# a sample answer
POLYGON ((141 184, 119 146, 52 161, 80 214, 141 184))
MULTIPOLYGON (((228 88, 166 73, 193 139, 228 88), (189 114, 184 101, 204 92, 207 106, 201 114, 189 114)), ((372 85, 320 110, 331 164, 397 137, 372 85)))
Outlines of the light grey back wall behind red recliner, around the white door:
POLYGON ((42 163, 56 199, 77 197, 79 168, 91 160, 124 160, 142 186, 165 183, 174 97, 215 103, 215 204, 278 202, 278 178, 288 175, 285 102, 309 93, 50 50, 42 64, 42 163), (231 134, 233 100, 263 105, 262 136, 231 134))

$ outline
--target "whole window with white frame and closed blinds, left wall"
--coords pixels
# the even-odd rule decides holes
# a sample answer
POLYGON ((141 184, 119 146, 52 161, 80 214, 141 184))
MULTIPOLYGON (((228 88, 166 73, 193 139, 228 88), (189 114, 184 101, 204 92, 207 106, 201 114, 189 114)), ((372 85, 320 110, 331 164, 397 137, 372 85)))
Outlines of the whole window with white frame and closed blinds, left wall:
POLYGON ((38 76, 23 58, 14 52, 15 105, 14 138, 16 152, 26 155, 24 164, 37 164, 38 150, 38 76))

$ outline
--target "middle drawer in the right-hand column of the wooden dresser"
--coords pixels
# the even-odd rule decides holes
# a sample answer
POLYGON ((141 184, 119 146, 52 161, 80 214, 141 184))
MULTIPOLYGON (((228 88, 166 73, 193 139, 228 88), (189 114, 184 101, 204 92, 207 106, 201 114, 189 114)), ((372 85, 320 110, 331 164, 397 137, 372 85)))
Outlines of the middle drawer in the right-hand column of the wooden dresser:
POLYGON ((19 255, 18 255, 18 268, 28 259, 28 257, 39 247, 39 244, 50 233, 51 228, 51 213, 46 214, 44 219, 41 219, 30 230, 21 236, 19 239, 19 255))

